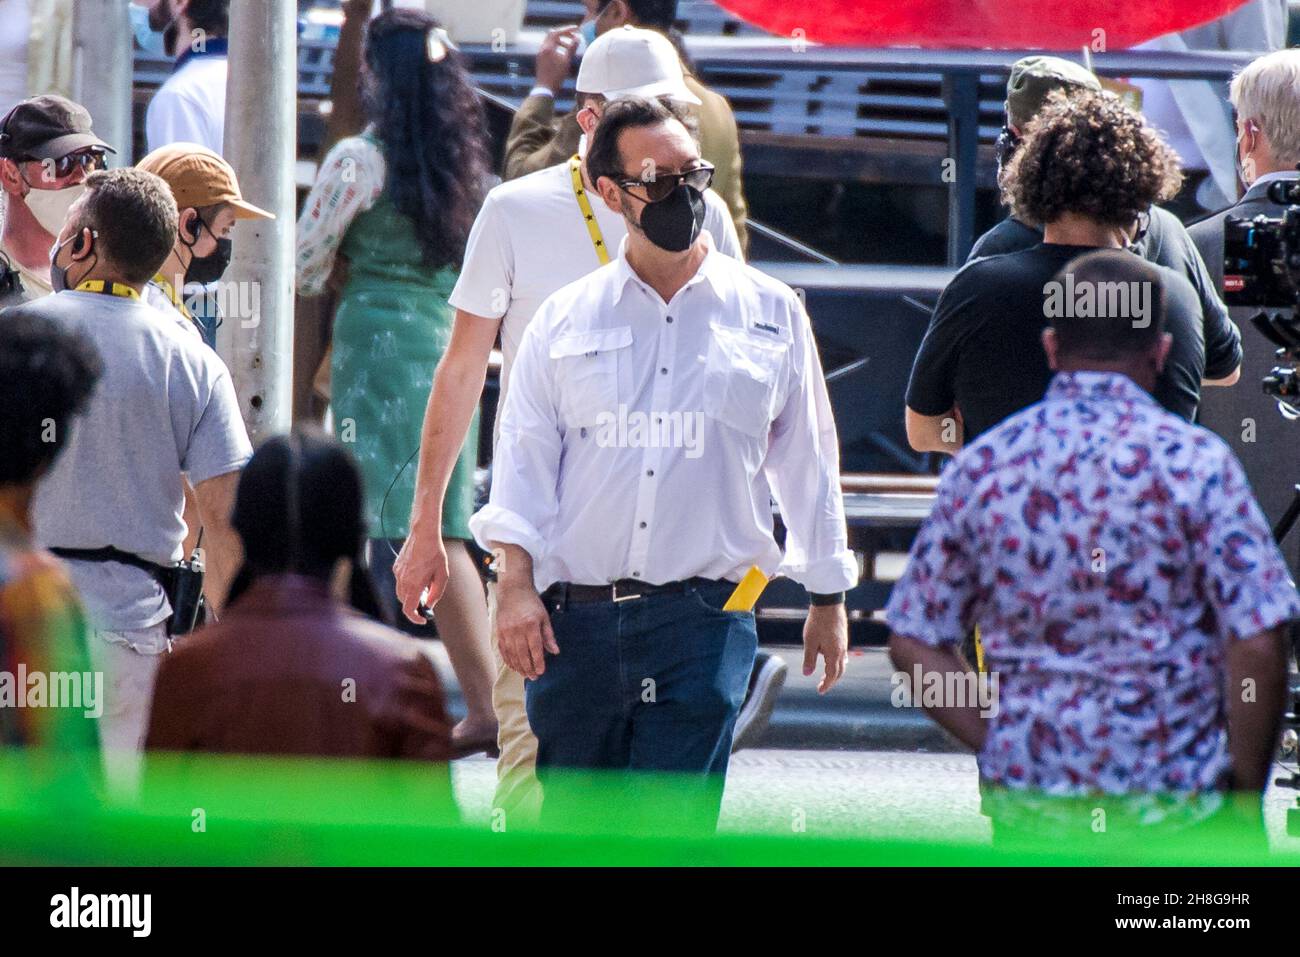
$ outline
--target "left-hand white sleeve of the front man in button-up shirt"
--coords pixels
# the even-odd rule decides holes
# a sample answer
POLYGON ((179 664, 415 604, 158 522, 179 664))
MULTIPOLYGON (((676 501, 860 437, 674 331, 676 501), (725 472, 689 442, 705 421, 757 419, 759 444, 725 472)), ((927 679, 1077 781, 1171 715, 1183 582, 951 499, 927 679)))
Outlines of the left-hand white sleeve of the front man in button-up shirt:
POLYGON ((546 343, 547 315, 543 306, 524 332, 506 390, 491 494, 469 519, 480 546, 517 545, 532 555, 534 568, 559 508, 562 439, 546 343))

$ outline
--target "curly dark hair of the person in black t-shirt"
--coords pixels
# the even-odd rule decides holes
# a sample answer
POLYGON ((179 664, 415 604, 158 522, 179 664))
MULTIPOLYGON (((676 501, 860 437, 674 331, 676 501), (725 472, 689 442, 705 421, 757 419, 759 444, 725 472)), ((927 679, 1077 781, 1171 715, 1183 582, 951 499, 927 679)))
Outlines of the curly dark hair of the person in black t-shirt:
POLYGON ((1054 91, 1024 129, 1002 176, 1011 215, 1043 225, 1079 213, 1130 226, 1183 182, 1175 153, 1141 116, 1108 92, 1054 91))

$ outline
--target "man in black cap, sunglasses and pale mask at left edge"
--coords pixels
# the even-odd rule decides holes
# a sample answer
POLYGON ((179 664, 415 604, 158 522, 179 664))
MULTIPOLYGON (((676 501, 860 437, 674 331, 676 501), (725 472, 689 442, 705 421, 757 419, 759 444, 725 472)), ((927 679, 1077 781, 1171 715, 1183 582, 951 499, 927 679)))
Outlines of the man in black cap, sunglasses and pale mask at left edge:
POLYGON ((90 113, 62 96, 32 96, 0 120, 0 304, 47 295, 49 250, 84 179, 116 152, 90 113))

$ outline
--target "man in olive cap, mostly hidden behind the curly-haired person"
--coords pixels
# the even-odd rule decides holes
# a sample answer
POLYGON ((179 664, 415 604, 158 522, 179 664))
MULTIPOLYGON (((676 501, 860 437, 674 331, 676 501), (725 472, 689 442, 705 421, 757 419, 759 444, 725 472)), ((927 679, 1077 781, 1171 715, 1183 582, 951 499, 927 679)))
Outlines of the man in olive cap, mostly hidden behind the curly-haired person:
MULTIPOLYGON (((1006 82, 1006 126, 997 138, 998 182, 1011 161, 1030 121, 1039 114, 1048 96, 1063 91, 1100 91, 1101 83, 1083 66, 1057 56, 1027 56, 1011 65, 1006 82)), ((1028 250, 1043 242, 1043 224, 1020 222, 1008 216, 975 241, 966 261, 1028 250)), ((1148 216, 1134 224, 1128 247, 1148 263, 1167 267, 1187 277, 1201 302, 1201 315, 1210 328, 1219 328, 1227 319, 1227 307, 1205 268, 1182 221, 1167 209, 1150 207, 1148 216)))

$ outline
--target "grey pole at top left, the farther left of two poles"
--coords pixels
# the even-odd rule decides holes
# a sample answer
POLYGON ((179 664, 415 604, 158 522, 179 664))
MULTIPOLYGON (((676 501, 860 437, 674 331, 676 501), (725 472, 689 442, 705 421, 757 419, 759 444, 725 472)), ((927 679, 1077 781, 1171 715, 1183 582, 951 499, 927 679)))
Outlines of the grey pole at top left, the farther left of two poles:
POLYGON ((131 23, 121 0, 77 0, 73 8, 73 99, 90 111, 95 134, 117 150, 113 166, 131 156, 131 23))

